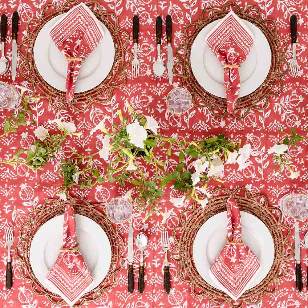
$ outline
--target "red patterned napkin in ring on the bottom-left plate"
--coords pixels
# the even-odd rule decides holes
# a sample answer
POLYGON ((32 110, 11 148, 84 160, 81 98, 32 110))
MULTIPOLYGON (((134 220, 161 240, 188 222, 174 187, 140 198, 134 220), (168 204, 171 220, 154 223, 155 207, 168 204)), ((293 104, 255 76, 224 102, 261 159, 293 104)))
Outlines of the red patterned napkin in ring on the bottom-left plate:
POLYGON ((93 276, 78 250, 75 214, 69 204, 65 207, 62 238, 63 246, 46 280, 69 306, 73 306, 91 290, 93 276))

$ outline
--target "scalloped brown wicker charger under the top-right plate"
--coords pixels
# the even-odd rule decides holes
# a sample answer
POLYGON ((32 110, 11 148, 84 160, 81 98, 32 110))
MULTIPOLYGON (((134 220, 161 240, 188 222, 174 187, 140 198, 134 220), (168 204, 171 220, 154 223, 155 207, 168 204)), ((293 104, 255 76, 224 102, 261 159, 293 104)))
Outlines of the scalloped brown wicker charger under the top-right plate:
POLYGON ((177 64, 173 67, 173 73, 183 77, 181 86, 187 83, 193 95, 195 107, 207 107, 218 117, 228 114, 226 99, 207 92, 194 77, 190 65, 190 50, 199 32, 210 22, 225 17, 229 13, 228 7, 231 6, 235 8, 234 11, 240 18, 253 23, 263 32, 269 42, 272 53, 270 71, 261 86, 249 95, 237 99, 235 110, 231 114, 237 119, 242 119, 251 109, 263 110, 269 106, 269 97, 279 95, 282 92, 283 85, 281 79, 289 69, 289 63, 284 59, 287 50, 286 41, 278 37, 275 21, 261 18, 261 13, 257 6, 248 6, 245 10, 241 10, 236 3, 229 2, 221 10, 211 8, 202 10, 199 21, 192 22, 184 27, 184 42, 176 48, 177 64), (204 17, 206 13, 207 17, 204 17), (284 71, 282 71, 283 65, 284 71), (201 101, 197 101, 197 99, 201 101), (258 105, 263 99, 265 99, 265 102, 258 105))

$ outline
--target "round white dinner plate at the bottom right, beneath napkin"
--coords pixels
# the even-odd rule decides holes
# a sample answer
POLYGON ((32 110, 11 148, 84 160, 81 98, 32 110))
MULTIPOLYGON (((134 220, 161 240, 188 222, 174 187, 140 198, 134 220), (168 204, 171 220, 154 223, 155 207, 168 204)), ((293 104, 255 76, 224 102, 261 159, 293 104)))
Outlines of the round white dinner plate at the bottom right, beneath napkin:
MULTIPOLYGON (((269 229, 252 214, 241 211, 242 240, 260 261, 257 276, 249 288, 259 284, 269 273, 274 261, 274 241, 269 229)), ((197 232, 193 243, 193 260, 201 277, 222 290, 209 276, 209 269, 226 244, 227 212, 209 218, 197 232)))

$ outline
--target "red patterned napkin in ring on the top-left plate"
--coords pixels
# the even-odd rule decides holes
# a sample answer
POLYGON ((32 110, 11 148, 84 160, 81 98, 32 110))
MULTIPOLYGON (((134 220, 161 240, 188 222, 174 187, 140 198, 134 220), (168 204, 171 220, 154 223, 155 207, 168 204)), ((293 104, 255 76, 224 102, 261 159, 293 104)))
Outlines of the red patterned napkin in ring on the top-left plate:
POLYGON ((68 61, 65 91, 69 102, 74 98, 81 63, 103 39, 104 32, 91 10, 80 3, 51 27, 49 35, 68 61))

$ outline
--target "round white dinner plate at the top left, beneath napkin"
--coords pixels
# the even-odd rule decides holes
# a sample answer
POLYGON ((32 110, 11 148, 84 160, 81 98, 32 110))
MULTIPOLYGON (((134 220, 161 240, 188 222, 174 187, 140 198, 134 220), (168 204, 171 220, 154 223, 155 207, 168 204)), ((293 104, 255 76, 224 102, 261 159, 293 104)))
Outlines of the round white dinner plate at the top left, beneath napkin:
MULTIPOLYGON (((34 43, 34 62, 43 79, 52 87, 65 91, 67 62, 49 36, 49 29, 63 14, 48 21, 34 43)), ((99 85, 109 74, 115 58, 115 46, 110 32, 100 22, 104 37, 95 50, 81 64, 75 93, 88 91, 99 85)))

